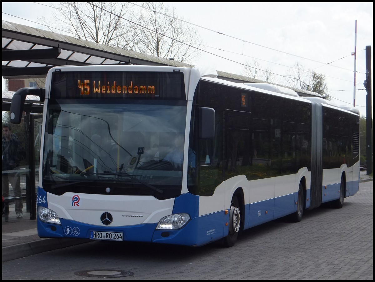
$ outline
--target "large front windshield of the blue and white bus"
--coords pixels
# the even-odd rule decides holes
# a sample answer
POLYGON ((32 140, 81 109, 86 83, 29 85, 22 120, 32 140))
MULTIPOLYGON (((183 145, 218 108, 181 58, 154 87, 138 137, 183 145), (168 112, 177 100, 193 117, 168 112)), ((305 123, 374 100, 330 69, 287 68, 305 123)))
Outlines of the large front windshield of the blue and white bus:
MULTIPOLYGON (((167 154, 184 136, 186 101, 50 100, 43 189, 117 195, 181 191, 182 166, 167 154)), ((170 193, 164 193, 170 194, 170 193)))

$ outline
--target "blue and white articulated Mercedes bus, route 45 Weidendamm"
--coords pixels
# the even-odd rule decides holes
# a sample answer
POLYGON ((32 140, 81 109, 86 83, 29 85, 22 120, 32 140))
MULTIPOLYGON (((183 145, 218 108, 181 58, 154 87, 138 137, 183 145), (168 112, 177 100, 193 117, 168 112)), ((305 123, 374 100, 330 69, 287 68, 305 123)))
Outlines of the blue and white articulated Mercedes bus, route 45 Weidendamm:
POLYGON ((59 66, 45 89, 37 231, 202 246, 359 190, 359 111, 210 68, 59 66))

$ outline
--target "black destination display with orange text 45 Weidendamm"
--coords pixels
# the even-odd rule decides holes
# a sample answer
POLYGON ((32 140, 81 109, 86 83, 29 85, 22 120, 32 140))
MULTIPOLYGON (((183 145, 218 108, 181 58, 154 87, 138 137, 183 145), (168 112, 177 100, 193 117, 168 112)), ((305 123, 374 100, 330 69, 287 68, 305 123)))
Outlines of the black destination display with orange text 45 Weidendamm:
POLYGON ((186 99, 182 72, 54 72, 51 98, 186 99))

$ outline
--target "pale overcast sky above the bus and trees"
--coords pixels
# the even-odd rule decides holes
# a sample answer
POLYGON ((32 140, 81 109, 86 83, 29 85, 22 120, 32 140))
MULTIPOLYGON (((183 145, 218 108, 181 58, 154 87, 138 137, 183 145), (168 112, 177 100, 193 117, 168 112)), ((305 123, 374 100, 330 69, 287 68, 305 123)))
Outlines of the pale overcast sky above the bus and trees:
MULTIPOLYGON (((51 18, 49 3, 3 2, 2 17, 4 21, 45 29, 37 18, 51 18)), ((260 69, 276 75, 274 83, 286 85, 284 76, 298 63, 305 70, 325 76, 332 102, 353 106, 355 99, 360 114, 366 116, 363 81, 366 46, 371 46, 372 68, 372 2, 164 5, 174 9, 179 19, 192 24, 202 39, 205 52, 191 64, 244 75, 243 65, 257 60, 260 69)))

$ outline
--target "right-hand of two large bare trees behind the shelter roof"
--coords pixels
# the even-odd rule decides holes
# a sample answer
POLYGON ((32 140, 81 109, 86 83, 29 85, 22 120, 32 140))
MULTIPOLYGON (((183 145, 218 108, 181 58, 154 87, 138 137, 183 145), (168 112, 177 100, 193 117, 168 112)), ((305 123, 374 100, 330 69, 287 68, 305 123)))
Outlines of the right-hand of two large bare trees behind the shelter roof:
MULTIPOLYGON (((202 44, 196 29, 178 19, 174 9, 169 10, 163 2, 143 2, 142 9, 132 16, 131 25, 139 39, 133 51, 142 54, 188 62, 196 59, 196 48, 202 44)), ((123 39, 129 46, 129 39, 123 39)))

